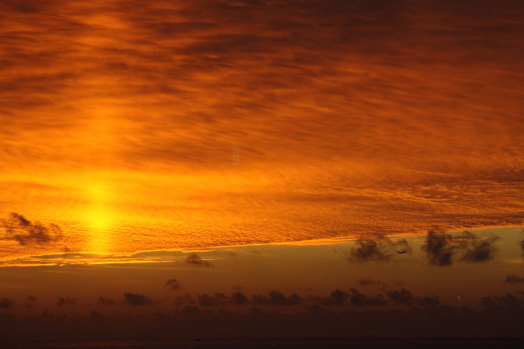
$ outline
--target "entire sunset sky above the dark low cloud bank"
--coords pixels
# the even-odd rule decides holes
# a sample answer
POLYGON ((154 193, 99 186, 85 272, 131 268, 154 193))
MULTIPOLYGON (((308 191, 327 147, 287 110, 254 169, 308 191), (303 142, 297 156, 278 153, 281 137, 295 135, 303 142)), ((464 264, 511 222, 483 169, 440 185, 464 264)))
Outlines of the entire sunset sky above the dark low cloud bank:
POLYGON ((0 314, 522 314, 522 18, 0 0, 0 314))

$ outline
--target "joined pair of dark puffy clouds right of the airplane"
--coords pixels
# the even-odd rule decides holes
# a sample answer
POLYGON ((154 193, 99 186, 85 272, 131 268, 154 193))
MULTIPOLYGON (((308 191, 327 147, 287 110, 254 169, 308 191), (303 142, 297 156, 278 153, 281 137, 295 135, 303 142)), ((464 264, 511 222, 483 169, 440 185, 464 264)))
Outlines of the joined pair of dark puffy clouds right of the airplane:
POLYGON ((457 255, 461 261, 484 262, 495 257, 498 249, 494 243, 498 239, 495 235, 480 238, 468 231, 457 236, 429 231, 421 249, 432 265, 451 265, 457 255))

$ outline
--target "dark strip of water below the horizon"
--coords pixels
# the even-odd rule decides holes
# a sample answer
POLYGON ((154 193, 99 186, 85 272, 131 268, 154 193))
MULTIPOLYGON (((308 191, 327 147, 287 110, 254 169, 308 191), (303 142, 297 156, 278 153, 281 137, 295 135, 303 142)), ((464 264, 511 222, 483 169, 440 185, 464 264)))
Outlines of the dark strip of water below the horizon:
POLYGON ((0 342, 3 349, 323 349, 323 348, 523 348, 518 338, 379 338, 379 339, 185 339, 125 341, 0 342))

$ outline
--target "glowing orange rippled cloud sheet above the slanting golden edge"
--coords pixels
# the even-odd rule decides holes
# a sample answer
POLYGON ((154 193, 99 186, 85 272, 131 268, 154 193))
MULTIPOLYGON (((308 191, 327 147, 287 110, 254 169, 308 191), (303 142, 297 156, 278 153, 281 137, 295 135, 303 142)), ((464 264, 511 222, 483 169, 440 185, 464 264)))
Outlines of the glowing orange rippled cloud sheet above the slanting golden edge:
POLYGON ((505 4, 3 2, 2 259, 521 225, 505 4))

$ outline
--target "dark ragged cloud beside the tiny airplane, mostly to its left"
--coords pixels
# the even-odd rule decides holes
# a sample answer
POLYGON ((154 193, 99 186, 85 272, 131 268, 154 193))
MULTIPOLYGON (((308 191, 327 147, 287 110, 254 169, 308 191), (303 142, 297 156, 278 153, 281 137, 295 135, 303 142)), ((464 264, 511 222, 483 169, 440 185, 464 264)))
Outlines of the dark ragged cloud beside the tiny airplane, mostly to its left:
POLYGON ((357 240, 357 244, 359 245, 357 248, 352 248, 350 250, 350 255, 347 257, 348 261, 386 261, 398 254, 397 249, 407 251, 408 253, 411 252, 411 247, 406 239, 392 241, 387 237, 381 237, 378 239, 360 238, 357 240))

